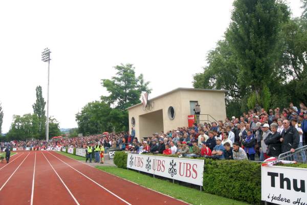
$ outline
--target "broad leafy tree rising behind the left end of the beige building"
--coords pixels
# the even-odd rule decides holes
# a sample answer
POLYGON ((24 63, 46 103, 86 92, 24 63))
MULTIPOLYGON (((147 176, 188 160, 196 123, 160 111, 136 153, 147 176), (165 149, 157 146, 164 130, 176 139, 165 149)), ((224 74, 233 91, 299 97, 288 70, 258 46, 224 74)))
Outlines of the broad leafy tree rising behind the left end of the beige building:
POLYGON ((143 75, 136 77, 135 68, 132 64, 121 64, 114 67, 116 76, 112 79, 102 79, 102 86, 110 93, 109 96, 101 96, 101 100, 116 108, 124 110, 140 103, 142 92, 150 92, 149 82, 145 82, 143 75))

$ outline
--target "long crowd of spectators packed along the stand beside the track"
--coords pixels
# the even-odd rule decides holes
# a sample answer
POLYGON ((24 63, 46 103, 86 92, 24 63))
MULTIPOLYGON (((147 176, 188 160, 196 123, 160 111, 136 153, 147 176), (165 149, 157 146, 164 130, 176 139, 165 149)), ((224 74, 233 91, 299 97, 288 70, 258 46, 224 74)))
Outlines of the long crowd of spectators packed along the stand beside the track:
MULTIPOLYGON (((153 153, 214 159, 249 159, 263 161, 283 152, 294 152, 306 144, 307 108, 299 109, 290 103, 280 110, 249 110, 240 117, 225 121, 194 124, 192 128, 179 127, 167 133, 152 134, 138 141, 135 130, 82 137, 45 140, 11 141, 15 147, 70 146, 87 148, 99 144, 105 149, 118 148, 131 153, 153 153)), ((2 142, 1 147, 6 144, 2 142)), ((302 156, 306 160, 306 156, 302 156)))

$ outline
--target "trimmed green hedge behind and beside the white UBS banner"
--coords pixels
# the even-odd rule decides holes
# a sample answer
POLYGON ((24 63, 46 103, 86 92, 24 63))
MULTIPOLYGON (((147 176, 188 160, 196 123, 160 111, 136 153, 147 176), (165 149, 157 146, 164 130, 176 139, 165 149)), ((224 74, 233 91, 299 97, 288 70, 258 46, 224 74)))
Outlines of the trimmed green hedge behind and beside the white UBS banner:
MULTIPOLYGON (((116 152, 115 165, 119 168, 126 168, 127 156, 125 152, 116 152)), ((169 157, 170 155, 157 154, 155 156, 169 157)), ((177 155, 171 156, 178 157, 177 155)), ((206 193, 252 204, 261 203, 261 163, 248 160, 198 159, 205 160, 203 188, 206 193)))

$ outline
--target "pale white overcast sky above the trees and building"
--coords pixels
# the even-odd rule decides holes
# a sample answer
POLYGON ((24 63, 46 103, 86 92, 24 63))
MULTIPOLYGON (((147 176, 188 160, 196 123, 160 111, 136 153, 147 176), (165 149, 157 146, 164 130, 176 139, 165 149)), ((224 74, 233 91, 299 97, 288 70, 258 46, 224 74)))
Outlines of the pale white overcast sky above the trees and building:
MULTIPOLYGON (((107 92, 102 78, 114 66, 134 64, 150 81, 151 97, 192 87, 230 22, 230 0, 211 1, 1 1, 0 102, 3 133, 12 116, 32 113, 35 88, 47 101, 49 47, 50 115, 61 128, 77 127, 75 114, 107 92)), ((300 0, 289 0, 293 16, 300 0)))

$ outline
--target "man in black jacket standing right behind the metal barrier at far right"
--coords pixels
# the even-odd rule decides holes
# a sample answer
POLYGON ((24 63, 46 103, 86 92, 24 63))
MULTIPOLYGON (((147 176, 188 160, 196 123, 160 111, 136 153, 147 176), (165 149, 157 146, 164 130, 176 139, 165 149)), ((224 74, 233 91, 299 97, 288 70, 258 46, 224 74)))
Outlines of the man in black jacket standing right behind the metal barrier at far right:
POLYGON ((298 148, 299 144, 299 134, 297 130, 293 127, 290 127, 290 122, 288 119, 283 120, 282 125, 284 127, 280 141, 282 142, 281 151, 282 152, 295 152, 295 149, 298 148))

